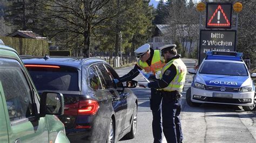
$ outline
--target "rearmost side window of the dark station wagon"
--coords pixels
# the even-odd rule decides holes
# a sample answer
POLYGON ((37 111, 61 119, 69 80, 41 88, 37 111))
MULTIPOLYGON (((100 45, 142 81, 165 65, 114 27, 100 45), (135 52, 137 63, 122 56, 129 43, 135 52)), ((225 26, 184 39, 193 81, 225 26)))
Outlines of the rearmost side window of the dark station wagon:
POLYGON ((95 90, 104 89, 102 86, 102 82, 100 82, 100 77, 97 73, 95 66, 89 68, 89 82, 90 87, 95 90))

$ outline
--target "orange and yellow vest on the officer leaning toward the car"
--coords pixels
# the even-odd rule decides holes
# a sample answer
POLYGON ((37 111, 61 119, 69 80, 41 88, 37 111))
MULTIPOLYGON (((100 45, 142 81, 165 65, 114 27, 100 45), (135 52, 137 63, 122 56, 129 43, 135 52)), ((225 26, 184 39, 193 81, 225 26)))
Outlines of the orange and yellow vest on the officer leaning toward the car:
POLYGON ((154 50, 154 55, 151 61, 151 66, 147 64, 147 62, 143 62, 141 60, 137 61, 137 65, 141 68, 143 68, 146 73, 152 72, 153 74, 156 74, 157 71, 161 70, 163 68, 165 62, 163 56, 161 56, 160 50, 154 50))

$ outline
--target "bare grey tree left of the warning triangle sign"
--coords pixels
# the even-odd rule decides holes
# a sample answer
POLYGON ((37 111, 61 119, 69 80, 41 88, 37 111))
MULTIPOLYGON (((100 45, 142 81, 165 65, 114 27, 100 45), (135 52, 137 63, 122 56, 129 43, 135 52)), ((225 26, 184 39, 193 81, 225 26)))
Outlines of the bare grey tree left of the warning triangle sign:
MULTIPOLYGON (((192 43, 197 43, 199 16, 192 1, 172 1, 167 6, 169 13, 165 18, 166 24, 170 25, 169 35, 172 41, 181 44, 182 56, 191 52, 192 43), (188 47, 188 44, 190 46, 188 47), (189 50, 188 50, 188 49, 189 50)), ((194 48, 194 47, 193 47, 194 48)))

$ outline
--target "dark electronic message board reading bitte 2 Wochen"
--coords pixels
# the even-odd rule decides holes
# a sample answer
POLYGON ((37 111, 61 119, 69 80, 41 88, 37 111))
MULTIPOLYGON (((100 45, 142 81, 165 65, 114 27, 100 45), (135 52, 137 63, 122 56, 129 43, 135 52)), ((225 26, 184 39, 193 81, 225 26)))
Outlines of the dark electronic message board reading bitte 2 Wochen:
POLYGON ((200 30, 199 63, 207 51, 235 52, 236 36, 235 30, 200 30))

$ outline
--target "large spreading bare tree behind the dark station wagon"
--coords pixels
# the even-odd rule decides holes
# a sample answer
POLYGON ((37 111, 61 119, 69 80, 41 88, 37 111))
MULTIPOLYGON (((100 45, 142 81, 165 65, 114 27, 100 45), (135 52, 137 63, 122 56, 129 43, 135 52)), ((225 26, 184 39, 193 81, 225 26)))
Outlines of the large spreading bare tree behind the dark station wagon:
POLYGON ((55 32, 53 37, 68 34, 66 44, 82 39, 79 41, 79 45, 83 45, 82 54, 89 57, 90 37, 94 30, 117 15, 117 12, 111 10, 109 2, 110 0, 53 0, 46 3, 48 16, 45 19, 57 20, 56 26, 49 27, 48 30, 55 32))

